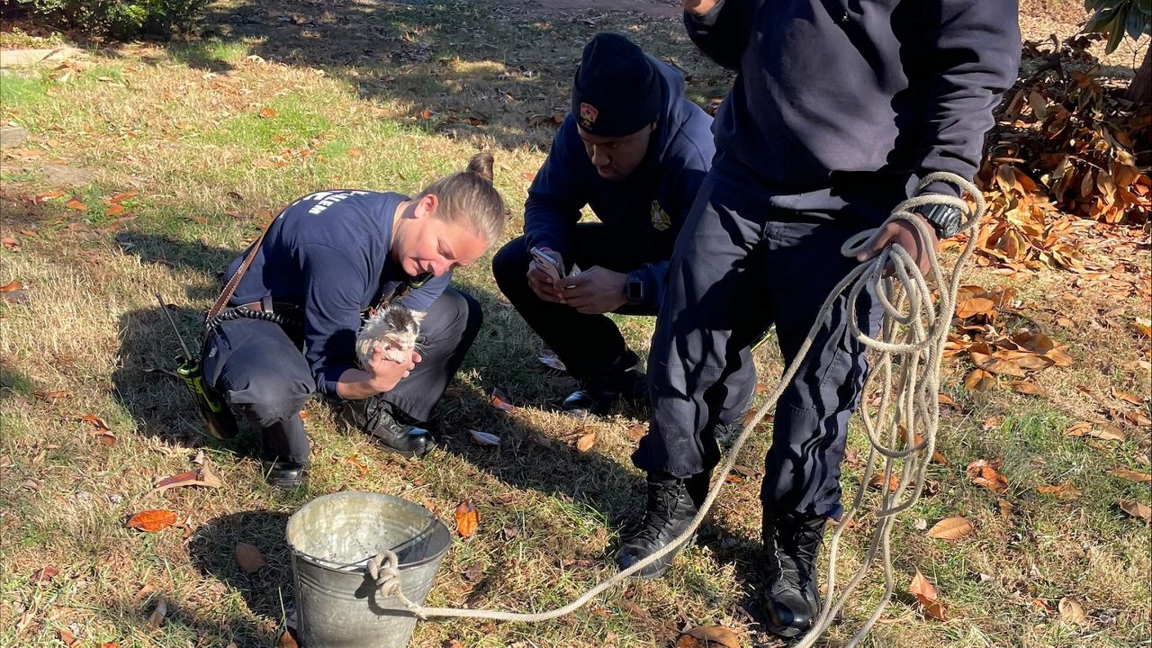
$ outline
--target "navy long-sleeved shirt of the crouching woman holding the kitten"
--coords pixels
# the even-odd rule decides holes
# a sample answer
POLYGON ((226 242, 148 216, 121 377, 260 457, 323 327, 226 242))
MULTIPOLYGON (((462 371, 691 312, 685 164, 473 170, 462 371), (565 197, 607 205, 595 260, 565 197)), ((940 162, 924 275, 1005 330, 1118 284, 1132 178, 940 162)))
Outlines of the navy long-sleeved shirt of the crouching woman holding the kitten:
MULTIPOLYGON (((411 279, 391 255, 393 216, 407 199, 349 189, 300 198, 276 218, 236 287, 233 304, 271 295, 303 308, 304 354, 320 393, 339 397, 340 375, 356 368, 361 311, 411 279)), ((399 303, 427 310, 449 281, 450 272, 430 279, 399 303)))

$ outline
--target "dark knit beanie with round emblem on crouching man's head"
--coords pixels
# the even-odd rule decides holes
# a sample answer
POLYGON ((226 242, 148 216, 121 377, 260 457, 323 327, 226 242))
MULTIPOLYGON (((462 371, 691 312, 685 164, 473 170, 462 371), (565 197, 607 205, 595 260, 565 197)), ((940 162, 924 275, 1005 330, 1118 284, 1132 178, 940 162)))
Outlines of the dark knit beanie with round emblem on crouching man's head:
POLYGON ((660 80, 644 52, 619 33, 593 36, 573 81, 576 123, 592 135, 620 137, 659 113, 660 80))

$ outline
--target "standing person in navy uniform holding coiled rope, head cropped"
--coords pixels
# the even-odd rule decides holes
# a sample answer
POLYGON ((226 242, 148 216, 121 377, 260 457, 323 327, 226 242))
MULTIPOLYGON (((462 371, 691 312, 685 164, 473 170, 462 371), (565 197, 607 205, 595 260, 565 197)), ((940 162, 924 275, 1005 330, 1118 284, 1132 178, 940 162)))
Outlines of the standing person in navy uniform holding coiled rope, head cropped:
MULTIPOLYGON (((878 227, 930 172, 971 179, 992 108, 1016 78, 1021 40, 1011 0, 827 2, 683 0, 700 50, 738 73, 717 116, 717 158, 676 243, 652 342, 653 415, 634 462, 647 472, 644 527, 621 568, 680 535, 719 460, 707 421, 717 390, 744 370, 771 324, 790 363, 828 292, 896 243, 926 270, 916 229, 885 226, 844 258, 850 235, 878 227)), ((922 210, 937 236, 960 214, 922 210)), ((861 325, 879 322, 862 297, 861 325)), ((776 404, 760 491, 768 628, 796 636, 819 612, 814 562, 839 518, 840 461, 866 366, 841 297, 776 404)), ((643 575, 661 574, 672 557, 643 575)))

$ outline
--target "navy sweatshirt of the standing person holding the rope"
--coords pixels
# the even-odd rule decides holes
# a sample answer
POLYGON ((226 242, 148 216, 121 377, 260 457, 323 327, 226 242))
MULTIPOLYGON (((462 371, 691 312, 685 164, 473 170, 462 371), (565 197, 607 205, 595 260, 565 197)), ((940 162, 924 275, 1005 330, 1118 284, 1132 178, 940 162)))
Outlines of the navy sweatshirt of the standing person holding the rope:
MULTIPOLYGON (((684 18, 740 73, 717 115, 715 167, 795 193, 856 172, 911 187, 934 171, 972 179, 1020 68, 1015 0, 721 0, 684 18)), ((926 191, 941 189, 955 194, 926 191)))

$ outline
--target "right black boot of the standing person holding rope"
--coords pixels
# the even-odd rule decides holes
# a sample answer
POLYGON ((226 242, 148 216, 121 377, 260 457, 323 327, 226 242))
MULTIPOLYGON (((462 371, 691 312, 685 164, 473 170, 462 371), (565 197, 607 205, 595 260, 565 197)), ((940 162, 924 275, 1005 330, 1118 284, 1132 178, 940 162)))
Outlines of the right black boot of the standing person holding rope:
POLYGON ((803 513, 764 515, 766 572, 764 608, 768 632, 790 639, 812 627, 820 615, 816 555, 827 519, 803 513))

